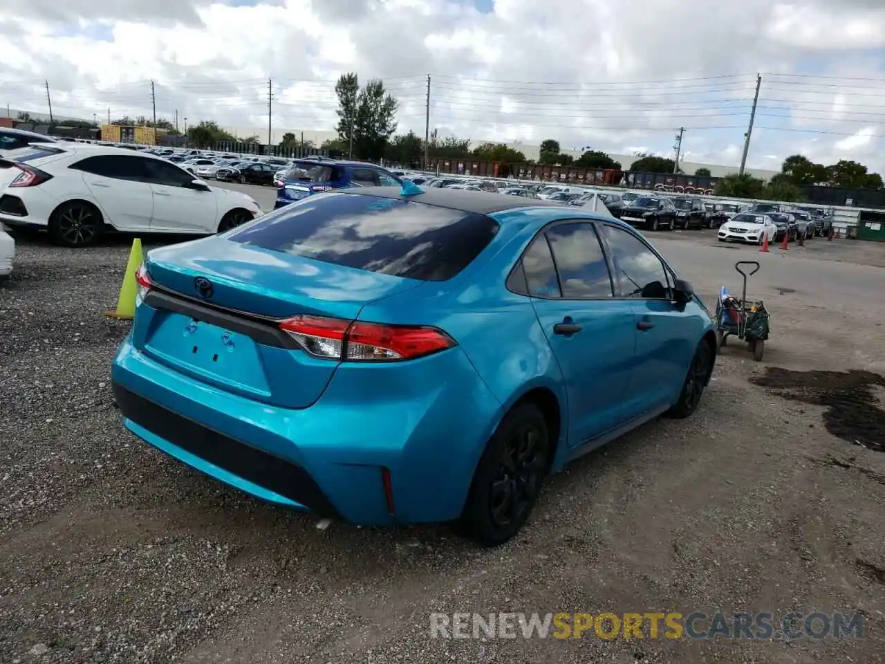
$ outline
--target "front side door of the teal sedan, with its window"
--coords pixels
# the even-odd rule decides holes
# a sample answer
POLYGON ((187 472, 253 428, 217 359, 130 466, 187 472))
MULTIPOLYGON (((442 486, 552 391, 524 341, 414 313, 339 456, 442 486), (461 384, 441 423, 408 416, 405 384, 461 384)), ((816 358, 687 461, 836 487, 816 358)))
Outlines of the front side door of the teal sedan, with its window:
POLYGON ((623 228, 599 228, 612 256, 618 297, 634 313, 635 369, 624 400, 624 414, 633 419, 673 404, 698 340, 694 321, 673 302, 673 277, 658 254, 623 228))

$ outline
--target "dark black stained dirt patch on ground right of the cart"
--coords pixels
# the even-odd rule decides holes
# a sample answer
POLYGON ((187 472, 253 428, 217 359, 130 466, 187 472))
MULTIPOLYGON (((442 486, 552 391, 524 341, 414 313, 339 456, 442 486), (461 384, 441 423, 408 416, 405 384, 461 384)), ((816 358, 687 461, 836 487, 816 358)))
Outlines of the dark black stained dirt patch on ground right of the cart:
POLYGON ((885 452, 885 411, 873 390, 885 377, 868 371, 790 371, 766 367, 750 382, 783 398, 822 405, 824 425, 833 436, 876 452, 885 452))

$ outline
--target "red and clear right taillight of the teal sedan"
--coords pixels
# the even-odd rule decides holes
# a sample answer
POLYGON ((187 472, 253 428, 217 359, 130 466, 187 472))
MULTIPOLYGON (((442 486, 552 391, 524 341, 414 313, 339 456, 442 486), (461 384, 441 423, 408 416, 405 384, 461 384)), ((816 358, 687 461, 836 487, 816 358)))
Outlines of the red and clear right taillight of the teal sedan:
POLYGON ((313 356, 356 362, 416 359, 455 345, 436 328, 295 316, 280 323, 313 356))

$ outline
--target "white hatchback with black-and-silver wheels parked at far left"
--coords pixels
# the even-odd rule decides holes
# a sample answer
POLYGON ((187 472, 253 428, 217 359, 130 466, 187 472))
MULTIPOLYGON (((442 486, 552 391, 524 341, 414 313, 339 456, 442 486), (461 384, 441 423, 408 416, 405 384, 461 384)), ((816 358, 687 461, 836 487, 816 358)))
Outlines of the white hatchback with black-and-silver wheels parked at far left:
POLYGON ((142 152, 57 143, 0 159, 0 222, 46 228, 63 246, 96 243, 108 228, 210 235, 260 213, 254 198, 142 152))

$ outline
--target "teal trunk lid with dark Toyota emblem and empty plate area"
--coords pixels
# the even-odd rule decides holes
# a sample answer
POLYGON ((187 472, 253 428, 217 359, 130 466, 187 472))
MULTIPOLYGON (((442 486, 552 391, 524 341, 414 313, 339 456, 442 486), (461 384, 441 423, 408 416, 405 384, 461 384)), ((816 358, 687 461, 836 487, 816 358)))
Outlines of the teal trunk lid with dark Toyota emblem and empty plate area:
POLYGON ((273 405, 304 408, 339 362, 313 357, 279 328, 299 314, 354 320, 409 279, 235 243, 222 236, 151 251, 152 290, 133 341, 165 366, 273 405))

